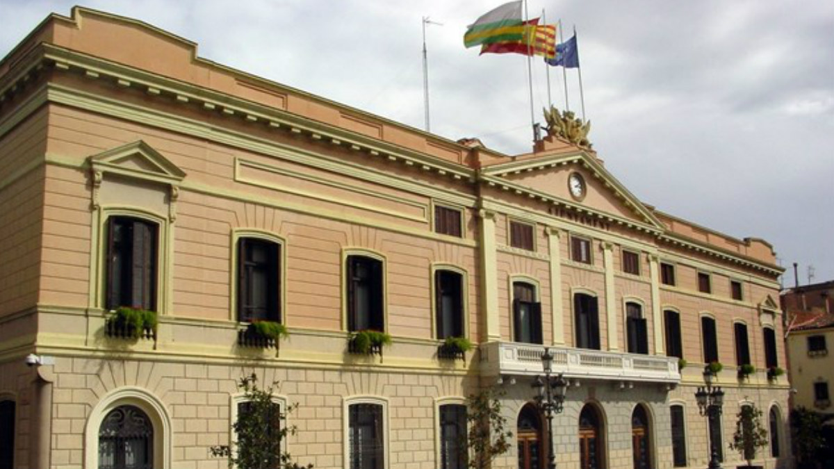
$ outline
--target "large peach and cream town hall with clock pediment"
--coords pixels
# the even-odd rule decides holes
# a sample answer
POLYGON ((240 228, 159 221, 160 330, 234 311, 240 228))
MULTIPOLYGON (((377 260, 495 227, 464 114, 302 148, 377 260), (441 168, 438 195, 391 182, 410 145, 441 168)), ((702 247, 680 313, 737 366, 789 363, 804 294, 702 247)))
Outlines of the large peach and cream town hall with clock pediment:
POLYGON ((641 203, 588 148, 450 141, 128 18, 50 16, 0 62, 2 468, 224 467, 208 447, 252 372, 299 403, 287 444, 316 467, 460 467, 486 386, 518 440, 495 466, 540 466, 545 345, 570 380, 560 467, 706 466, 709 361, 726 466, 745 403, 787 466, 780 274, 765 241, 641 203), (156 330, 119 338, 123 305, 156 330), (253 340, 257 319, 289 339, 253 340), (393 345, 355 353, 364 329, 393 345), (451 336, 478 349, 447 357, 451 336))

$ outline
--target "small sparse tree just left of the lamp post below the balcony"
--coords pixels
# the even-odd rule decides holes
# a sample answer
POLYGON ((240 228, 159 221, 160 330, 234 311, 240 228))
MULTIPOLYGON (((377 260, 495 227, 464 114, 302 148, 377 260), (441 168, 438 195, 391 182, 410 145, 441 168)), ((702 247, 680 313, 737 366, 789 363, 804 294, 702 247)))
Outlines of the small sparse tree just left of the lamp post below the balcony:
POLYGON ((501 415, 501 403, 495 391, 487 388, 466 399, 469 437, 466 446, 472 457, 471 469, 485 469, 496 457, 510 450, 512 431, 505 431, 507 419, 501 415))

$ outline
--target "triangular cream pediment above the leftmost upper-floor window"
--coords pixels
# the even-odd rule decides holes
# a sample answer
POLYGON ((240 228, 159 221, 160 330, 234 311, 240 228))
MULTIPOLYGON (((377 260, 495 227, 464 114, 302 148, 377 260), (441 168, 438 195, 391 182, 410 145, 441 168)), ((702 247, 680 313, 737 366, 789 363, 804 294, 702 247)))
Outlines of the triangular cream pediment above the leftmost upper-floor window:
POLYGON ((142 140, 93 155, 89 162, 96 179, 112 173, 176 186, 185 178, 182 169, 142 140))

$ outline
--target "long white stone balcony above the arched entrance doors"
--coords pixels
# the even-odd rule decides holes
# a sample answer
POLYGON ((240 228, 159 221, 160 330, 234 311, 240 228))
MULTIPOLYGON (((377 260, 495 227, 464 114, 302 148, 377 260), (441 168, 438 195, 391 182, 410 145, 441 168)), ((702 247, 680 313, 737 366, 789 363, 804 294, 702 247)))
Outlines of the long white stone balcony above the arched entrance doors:
MULTIPOLYGON (((636 355, 603 350, 550 347, 553 371, 567 378, 612 381, 679 383, 675 356, 636 355)), ((480 345, 481 370, 485 376, 541 374, 544 345, 515 342, 489 342, 480 345)))

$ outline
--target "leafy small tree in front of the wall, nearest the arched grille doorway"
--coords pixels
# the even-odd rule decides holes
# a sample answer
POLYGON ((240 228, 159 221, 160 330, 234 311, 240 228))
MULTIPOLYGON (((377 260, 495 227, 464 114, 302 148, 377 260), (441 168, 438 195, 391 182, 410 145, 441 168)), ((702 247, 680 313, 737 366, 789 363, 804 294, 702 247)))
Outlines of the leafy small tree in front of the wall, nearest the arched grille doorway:
MULTIPOLYGON (((253 373, 244 376, 238 388, 244 391, 245 402, 239 406, 238 419, 232 424, 237 441, 233 445, 211 447, 212 456, 226 457, 229 467, 239 469, 310 469, 292 461, 288 451, 282 451, 281 443, 295 434, 295 426, 282 426, 286 414, 274 401, 274 384, 261 389, 258 377, 253 373)), ((297 407, 291 406, 286 413, 297 407)))

